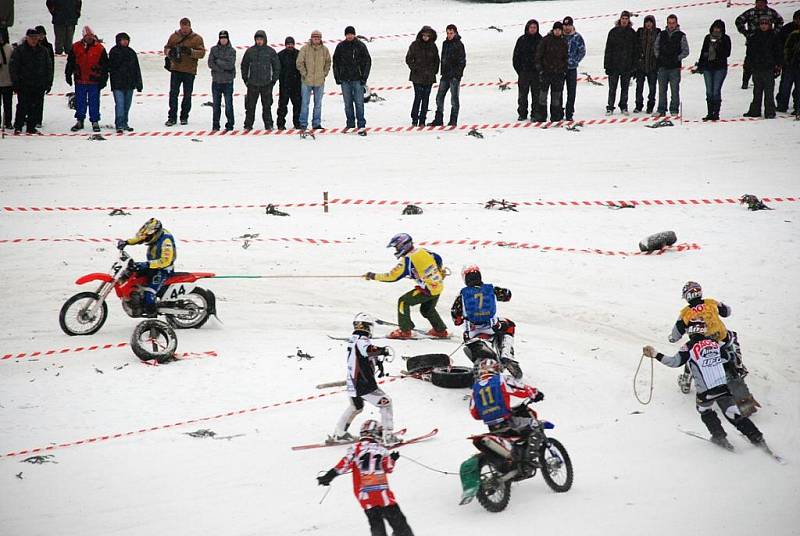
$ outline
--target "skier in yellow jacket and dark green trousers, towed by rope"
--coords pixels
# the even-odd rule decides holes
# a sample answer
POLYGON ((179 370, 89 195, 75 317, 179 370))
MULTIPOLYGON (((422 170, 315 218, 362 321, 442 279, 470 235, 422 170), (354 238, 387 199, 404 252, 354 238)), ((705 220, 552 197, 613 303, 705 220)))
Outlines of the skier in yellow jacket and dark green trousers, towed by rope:
POLYGON ((393 283, 408 277, 417 282, 413 290, 400 296, 397 301, 397 323, 400 327, 392 331, 389 338, 412 338, 411 330, 414 328, 414 322, 411 320, 411 307, 415 305, 420 306, 419 312, 431 323, 432 329, 428 331, 428 335, 448 337, 447 326, 436 311, 439 296, 444 291, 442 258, 425 248, 415 248, 411 237, 406 233, 392 237, 386 247, 394 248, 394 256, 400 259, 400 262, 389 272, 383 274, 367 272, 364 278, 393 283))

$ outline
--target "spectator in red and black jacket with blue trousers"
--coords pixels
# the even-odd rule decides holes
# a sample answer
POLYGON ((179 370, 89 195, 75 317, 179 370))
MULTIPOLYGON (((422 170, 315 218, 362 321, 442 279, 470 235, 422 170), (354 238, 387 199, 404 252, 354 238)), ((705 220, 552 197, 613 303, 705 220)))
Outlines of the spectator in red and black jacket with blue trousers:
POLYGON ((89 26, 83 27, 83 39, 72 45, 64 74, 67 84, 75 81, 75 125, 72 132, 83 128, 86 105, 92 131, 100 132, 100 90, 108 81, 108 54, 89 26))

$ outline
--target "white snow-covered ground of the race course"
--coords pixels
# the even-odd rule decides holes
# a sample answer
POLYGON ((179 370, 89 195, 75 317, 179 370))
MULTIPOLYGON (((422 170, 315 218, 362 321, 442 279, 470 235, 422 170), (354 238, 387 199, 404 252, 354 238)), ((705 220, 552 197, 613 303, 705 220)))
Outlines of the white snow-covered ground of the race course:
MULTIPOLYGON (((39 3, 18 3, 14 30, 49 19, 39 3)), ((42 3, 43 4, 43 3, 42 3)), ((622 9, 657 15, 668 0, 584 0, 505 5, 421 0, 296 2, 264 7, 237 0, 214 3, 108 0, 86 3, 81 23, 112 42, 132 35, 139 50, 163 46, 182 16, 208 46, 225 28, 234 44, 248 44, 265 28, 270 42, 287 34, 305 38, 321 29, 338 37, 347 24, 364 35, 415 33, 423 24, 443 30, 455 22, 467 48, 465 82, 513 80, 516 37, 528 18, 571 15, 587 41, 581 70, 602 74, 602 52, 613 17, 622 9), (650 10, 650 11, 648 11, 650 10), (259 21, 259 22, 254 22, 259 21), (505 28, 502 33, 486 28, 505 28)), ((800 2, 774 2, 785 18, 800 2)), ((710 23, 733 19, 745 9, 724 2, 674 10, 687 32, 690 59, 699 53, 710 23)), ((641 20, 641 19, 639 19, 641 20)), ((637 21, 638 22, 638 21, 637 21)), ((49 25, 46 25, 48 29, 49 25)), ((549 28, 551 24, 542 24, 549 28)), ((440 32, 440 33, 443 33, 440 32)), ((732 36, 732 61, 744 56, 732 36)), ((378 39, 370 83, 401 85, 411 38, 378 39)), ((332 48, 332 46, 331 46, 332 48)), ((240 52, 241 57, 241 52, 240 52)), ((145 91, 165 92, 168 76, 158 56, 141 57, 145 91)), ((202 66, 203 64, 201 64, 202 66)), ((57 72, 63 68, 59 60, 57 72)), ((746 110, 750 92, 739 89, 731 69, 723 93, 723 117, 746 110)), ((332 80, 329 88, 333 89, 332 80)), ((67 88, 57 75, 54 92, 67 88)), ((237 82, 237 90, 241 90, 237 82)), ((210 90, 200 69, 195 91, 210 90)), ((408 123, 410 91, 386 91, 385 102, 367 105, 370 126, 408 123)), ((702 79, 686 75, 684 116, 704 114, 702 79)), ((632 95, 631 95, 632 97, 632 95)), ((578 88, 578 119, 598 118, 606 88, 578 88)), ((208 100, 195 98, 188 128, 210 127, 208 100)), ((462 90, 464 123, 516 118, 516 88, 462 90)), ((236 101, 237 126, 243 118, 236 101)), ((166 99, 137 97, 131 124, 163 130, 166 99)), ((103 124, 113 122, 113 101, 103 100, 103 124)), ((343 126, 339 97, 326 97, 323 122, 343 126)), ((65 132, 72 123, 65 99, 48 97, 45 131, 65 132)), ((513 488, 511 504, 489 514, 477 504, 458 506, 460 485, 400 458, 392 487, 415 533, 481 534, 533 530, 547 534, 800 534, 800 206, 772 202, 774 211, 748 212, 730 204, 638 206, 526 206, 519 212, 488 211, 490 198, 515 201, 736 198, 745 193, 794 197, 793 169, 800 123, 775 121, 646 129, 642 125, 563 129, 487 129, 485 138, 464 132, 375 134, 366 139, 295 137, 6 138, 0 140, 0 206, 136 206, 319 202, 331 197, 455 202, 423 205, 424 214, 401 216, 399 206, 332 205, 286 208, 287 218, 263 209, 129 210, 31 213, 0 212, 0 240, 16 238, 112 238, 131 236, 148 217, 164 221, 178 240, 178 267, 218 274, 361 274, 389 269, 384 248, 397 232, 418 241, 479 239, 543 246, 633 252, 644 236, 671 229, 679 242, 700 249, 657 256, 609 256, 541 252, 497 246, 436 245, 455 273, 477 263, 488 281, 507 286, 513 300, 501 312, 518 325, 517 355, 530 383, 546 393, 540 414, 556 423, 553 436, 568 448, 575 484, 552 493, 541 481, 513 488), (345 244, 192 242, 263 237, 336 239, 345 244), (728 325, 738 331, 751 370, 748 383, 763 404, 754 422, 790 463, 780 466, 728 427, 737 447, 728 454, 678 432, 703 431, 691 395, 676 385, 678 371, 656 364, 653 402, 633 396, 634 370, 644 344, 674 351, 666 343, 688 280, 706 295, 733 307, 728 325)), ((796 166, 794 166, 796 167, 796 166)), ((132 248, 137 256, 144 252, 132 248)), ((116 302, 96 335, 69 338, 57 324, 63 301, 78 292, 74 280, 105 271, 114 260, 110 242, 0 242, 0 357, 49 349, 127 341, 135 321, 116 302)), ((443 315, 459 287, 446 281, 443 315)), ((397 297, 409 282, 392 285, 358 279, 210 280, 219 316, 200 330, 182 331, 179 351, 214 351, 216 357, 168 366, 141 365, 128 348, 30 355, 0 360, 0 527, 9 535, 50 534, 365 534, 366 519, 352 496, 349 477, 338 479, 319 504, 323 489, 314 477, 344 449, 292 452, 293 444, 330 433, 346 405, 343 394, 285 406, 221 416, 50 452, 57 464, 20 463, 6 453, 51 444, 125 434, 202 417, 260 408, 319 394, 315 385, 343 378, 344 343, 352 316, 368 311, 394 319, 397 297), (298 348, 314 356, 291 358, 298 348), (98 372, 102 371, 102 373, 98 372), (210 428, 230 440, 184 435, 210 428), (242 435, 239 435, 242 434, 242 435), (15 475, 21 473, 21 479, 15 475)), ((419 327, 427 328, 415 316, 419 327)), ((449 323, 449 322, 448 322, 449 323)), ((456 344, 408 341, 398 354, 450 353, 456 344)), ((457 352, 459 364, 466 358, 457 352)), ((399 374, 399 362, 390 365, 399 374)), ((649 373, 649 370, 645 370, 649 373)), ((640 388, 646 391, 646 382, 640 388)), ((398 425, 409 433, 432 427, 436 439, 403 450, 423 463, 457 470, 472 452, 465 438, 482 426, 473 421, 465 391, 416 380, 386 385, 398 425)), ((368 410, 359 418, 376 413, 368 410)), ((727 427, 727 424, 725 424, 727 427)))

